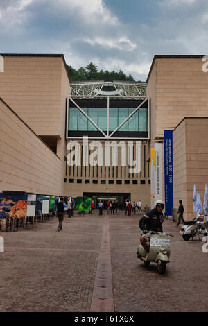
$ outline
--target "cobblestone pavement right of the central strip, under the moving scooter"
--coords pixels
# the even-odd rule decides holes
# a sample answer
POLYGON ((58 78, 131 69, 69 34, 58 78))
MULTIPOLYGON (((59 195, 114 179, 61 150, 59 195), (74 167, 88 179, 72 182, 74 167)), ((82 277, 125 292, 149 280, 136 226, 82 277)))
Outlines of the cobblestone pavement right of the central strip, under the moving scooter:
POLYGON ((174 237, 171 262, 159 275, 156 264, 144 266, 136 256, 138 221, 138 215, 110 218, 115 311, 207 311, 208 253, 202 241, 184 241, 176 223, 164 221, 164 232, 174 237))

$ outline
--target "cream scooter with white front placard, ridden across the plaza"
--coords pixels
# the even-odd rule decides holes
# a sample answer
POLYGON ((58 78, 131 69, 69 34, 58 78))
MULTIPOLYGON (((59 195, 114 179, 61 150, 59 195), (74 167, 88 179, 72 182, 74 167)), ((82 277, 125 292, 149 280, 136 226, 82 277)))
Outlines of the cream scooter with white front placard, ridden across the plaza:
POLYGON ((150 246, 150 251, 146 252, 143 246, 139 246, 137 249, 137 257, 144 261, 144 264, 148 266, 150 262, 157 264, 157 271, 159 274, 164 274, 166 271, 166 264, 169 263, 169 257, 171 254, 171 239, 173 237, 171 233, 153 232, 151 233, 150 242, 147 244, 150 246), (148 259, 146 260, 146 257, 148 259))

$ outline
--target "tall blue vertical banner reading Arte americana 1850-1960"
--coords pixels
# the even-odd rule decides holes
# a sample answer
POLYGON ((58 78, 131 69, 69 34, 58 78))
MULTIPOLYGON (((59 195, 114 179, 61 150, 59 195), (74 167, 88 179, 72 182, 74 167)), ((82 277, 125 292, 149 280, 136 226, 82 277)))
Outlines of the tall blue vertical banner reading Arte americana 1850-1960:
POLYGON ((164 130, 164 187, 166 216, 173 208, 173 131, 164 130))

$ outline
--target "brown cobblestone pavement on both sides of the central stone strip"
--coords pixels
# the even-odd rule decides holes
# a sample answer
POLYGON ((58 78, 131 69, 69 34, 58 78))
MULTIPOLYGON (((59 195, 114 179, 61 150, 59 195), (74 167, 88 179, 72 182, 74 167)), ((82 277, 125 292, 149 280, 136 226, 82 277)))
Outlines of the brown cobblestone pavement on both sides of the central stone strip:
MULTIPOLYGON (((202 242, 185 242, 175 223, 171 263, 164 275, 137 259, 139 216, 109 215, 114 309, 119 311, 207 311, 208 254, 202 242)), ((58 218, 18 232, 0 232, 0 311, 90 311, 104 216, 58 218)))

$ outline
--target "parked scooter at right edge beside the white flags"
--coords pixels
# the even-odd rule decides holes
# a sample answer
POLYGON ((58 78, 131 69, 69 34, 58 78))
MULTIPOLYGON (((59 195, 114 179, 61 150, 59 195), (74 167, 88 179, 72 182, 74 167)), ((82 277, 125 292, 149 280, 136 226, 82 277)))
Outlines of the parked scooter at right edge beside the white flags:
POLYGON ((192 237, 199 237, 200 239, 200 234, 205 234, 208 233, 207 228, 206 228, 206 223, 204 220, 205 215, 200 215, 196 216, 191 221, 184 221, 184 225, 180 228, 180 234, 182 234, 182 237, 184 241, 189 241, 189 239, 192 237))

